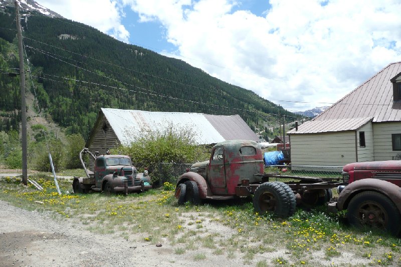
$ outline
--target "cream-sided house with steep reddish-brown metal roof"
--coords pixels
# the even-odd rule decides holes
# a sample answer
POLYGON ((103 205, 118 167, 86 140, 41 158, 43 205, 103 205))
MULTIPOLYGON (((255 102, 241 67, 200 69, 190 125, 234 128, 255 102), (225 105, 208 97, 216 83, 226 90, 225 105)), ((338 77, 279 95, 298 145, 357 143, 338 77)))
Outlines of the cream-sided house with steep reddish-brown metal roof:
POLYGON ((401 62, 391 63, 287 133, 291 164, 337 165, 401 156, 401 62))

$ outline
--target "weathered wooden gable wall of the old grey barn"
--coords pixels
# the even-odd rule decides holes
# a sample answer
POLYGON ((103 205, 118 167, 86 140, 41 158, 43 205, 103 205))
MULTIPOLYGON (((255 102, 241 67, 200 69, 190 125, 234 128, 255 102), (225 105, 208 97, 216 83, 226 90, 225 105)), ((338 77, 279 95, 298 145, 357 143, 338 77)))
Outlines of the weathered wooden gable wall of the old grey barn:
MULTIPOLYGON (((117 135, 114 133, 107 119, 102 116, 100 118, 99 123, 95 125, 93 129, 94 135, 89 144, 89 151, 95 153, 95 151, 99 151, 100 154, 105 154, 106 151, 110 148, 114 148, 120 145, 120 141, 117 138, 117 135), (104 123, 107 124, 106 133, 103 132, 102 127, 104 123)), ((93 161, 91 160, 89 163, 90 168, 93 168, 93 161)))

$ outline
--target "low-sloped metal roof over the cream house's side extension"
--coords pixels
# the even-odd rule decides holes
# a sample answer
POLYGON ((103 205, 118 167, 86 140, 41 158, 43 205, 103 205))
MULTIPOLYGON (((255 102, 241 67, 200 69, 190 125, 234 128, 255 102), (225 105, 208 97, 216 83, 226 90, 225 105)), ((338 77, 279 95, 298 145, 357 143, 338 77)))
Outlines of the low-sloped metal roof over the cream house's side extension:
POLYGON ((338 131, 357 130, 369 121, 370 118, 349 118, 349 119, 329 119, 329 120, 312 120, 307 121, 302 126, 298 127, 298 131, 291 129, 288 134, 304 134, 304 133, 325 133, 338 131))

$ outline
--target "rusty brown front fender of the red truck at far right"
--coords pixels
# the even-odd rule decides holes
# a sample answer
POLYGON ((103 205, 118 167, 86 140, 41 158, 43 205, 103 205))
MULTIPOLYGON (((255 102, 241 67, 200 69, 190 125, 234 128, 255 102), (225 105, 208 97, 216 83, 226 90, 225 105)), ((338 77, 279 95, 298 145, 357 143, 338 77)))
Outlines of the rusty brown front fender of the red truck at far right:
POLYGON ((363 191, 375 191, 387 196, 401 213, 401 188, 393 183, 374 178, 357 180, 345 186, 338 196, 337 209, 347 209, 352 197, 363 191))

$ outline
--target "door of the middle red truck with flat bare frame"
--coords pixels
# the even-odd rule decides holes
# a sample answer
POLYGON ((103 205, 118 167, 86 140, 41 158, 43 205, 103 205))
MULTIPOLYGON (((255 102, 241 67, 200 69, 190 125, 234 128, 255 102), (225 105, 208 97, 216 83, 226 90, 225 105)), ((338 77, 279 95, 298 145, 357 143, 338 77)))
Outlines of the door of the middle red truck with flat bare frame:
POLYGON ((223 147, 218 146, 212 152, 210 159, 210 183, 212 185, 211 190, 213 193, 222 193, 226 191, 226 171, 224 165, 224 152, 223 147))

